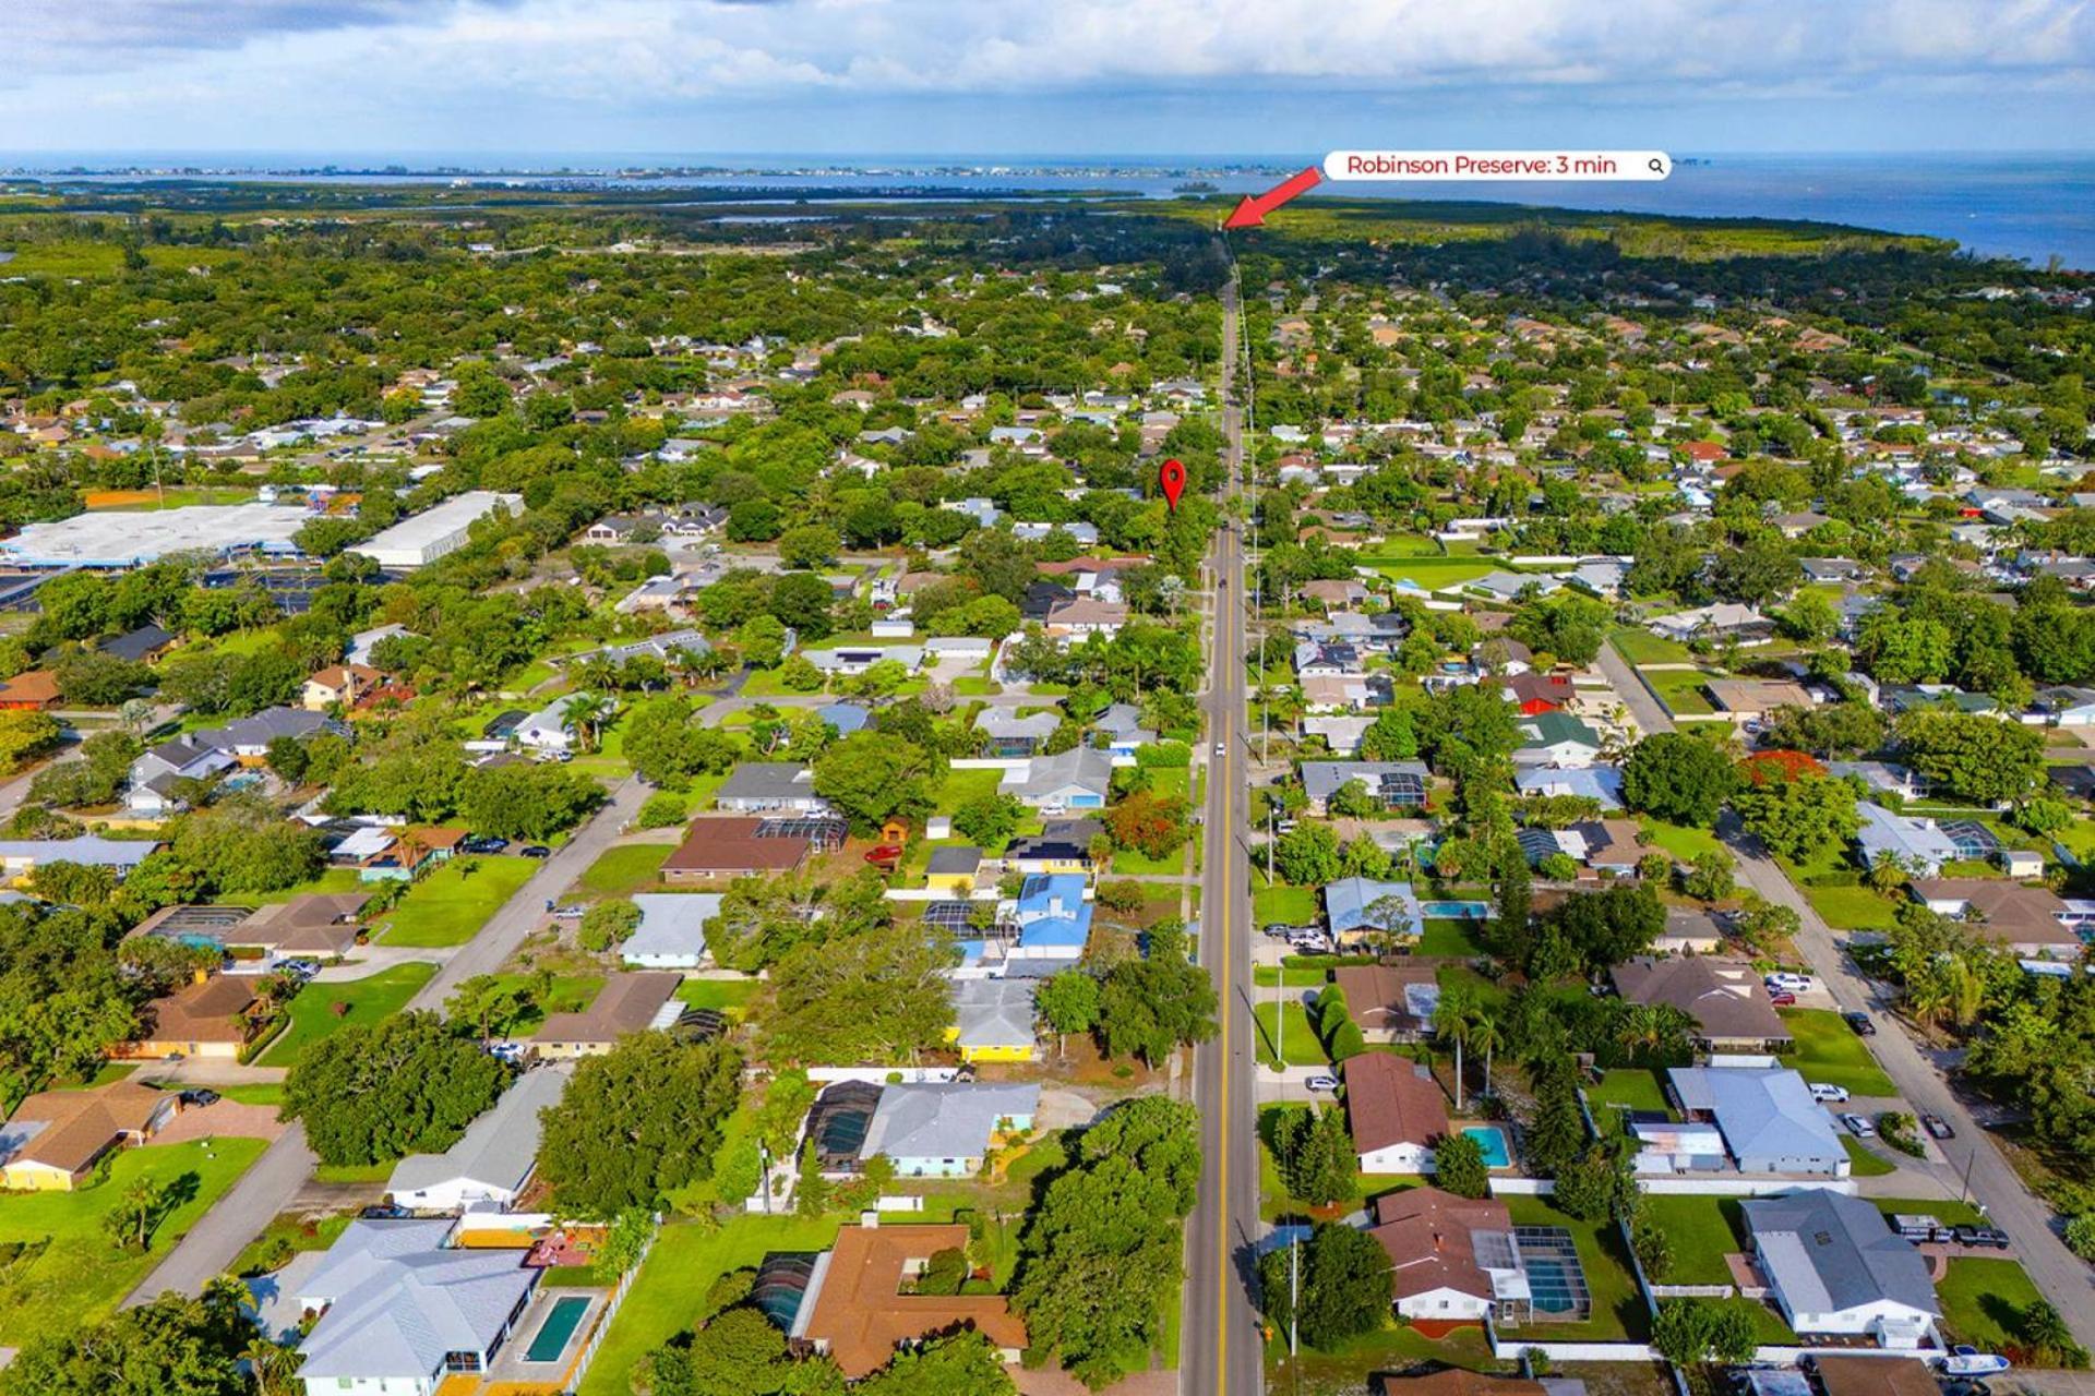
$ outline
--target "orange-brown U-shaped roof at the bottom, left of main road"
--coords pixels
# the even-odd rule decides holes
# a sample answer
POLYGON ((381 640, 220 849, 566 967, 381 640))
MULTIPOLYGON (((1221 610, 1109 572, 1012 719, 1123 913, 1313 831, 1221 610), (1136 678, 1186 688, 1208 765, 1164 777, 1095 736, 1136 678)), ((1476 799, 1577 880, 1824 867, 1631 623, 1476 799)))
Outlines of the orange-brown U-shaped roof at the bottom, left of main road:
POLYGON ((1027 1327, 1001 1293, 901 1293, 911 1260, 966 1245, 968 1229, 960 1224, 838 1231, 807 1337, 823 1344, 851 1381, 886 1367, 897 1344, 953 1327, 978 1329, 997 1348, 1024 1348, 1027 1327))

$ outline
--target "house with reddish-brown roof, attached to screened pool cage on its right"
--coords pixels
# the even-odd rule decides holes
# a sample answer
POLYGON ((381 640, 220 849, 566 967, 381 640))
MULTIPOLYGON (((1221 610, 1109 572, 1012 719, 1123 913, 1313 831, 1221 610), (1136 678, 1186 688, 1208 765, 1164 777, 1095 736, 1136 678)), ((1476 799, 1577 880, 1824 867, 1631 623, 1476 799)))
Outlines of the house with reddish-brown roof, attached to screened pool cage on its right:
POLYGON ((1513 1216, 1496 1197, 1456 1197, 1437 1187, 1383 1193, 1368 1235, 1395 1270, 1397 1314, 1429 1335, 1439 1335, 1439 1325, 1508 1316, 1500 1300, 1513 1304, 1525 1289, 1513 1216))

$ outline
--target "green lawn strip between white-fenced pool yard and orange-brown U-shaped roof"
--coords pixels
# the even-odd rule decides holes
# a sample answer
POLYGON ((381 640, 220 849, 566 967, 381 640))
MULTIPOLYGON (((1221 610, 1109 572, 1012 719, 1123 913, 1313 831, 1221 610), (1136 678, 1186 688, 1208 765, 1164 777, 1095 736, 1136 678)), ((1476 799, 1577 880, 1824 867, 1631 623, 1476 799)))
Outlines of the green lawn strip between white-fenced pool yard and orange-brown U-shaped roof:
POLYGON ((633 1367, 691 1325, 712 1281, 754 1268, 769 1252, 819 1252, 836 1241, 836 1216, 737 1216, 725 1226, 672 1222, 656 1237, 626 1302, 612 1319, 578 1396, 626 1396, 633 1367))

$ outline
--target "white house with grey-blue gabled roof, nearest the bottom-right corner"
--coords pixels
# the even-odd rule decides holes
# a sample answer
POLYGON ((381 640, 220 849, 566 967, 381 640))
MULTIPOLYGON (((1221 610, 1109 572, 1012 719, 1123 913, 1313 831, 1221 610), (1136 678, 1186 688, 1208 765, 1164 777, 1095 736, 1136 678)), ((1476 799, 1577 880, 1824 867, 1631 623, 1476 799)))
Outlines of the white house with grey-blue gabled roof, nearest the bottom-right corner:
POLYGON ((1927 1260, 1873 1203, 1810 1187, 1747 1197, 1739 1210, 1770 1298, 1800 1337, 1932 1344, 1942 1306, 1927 1260))

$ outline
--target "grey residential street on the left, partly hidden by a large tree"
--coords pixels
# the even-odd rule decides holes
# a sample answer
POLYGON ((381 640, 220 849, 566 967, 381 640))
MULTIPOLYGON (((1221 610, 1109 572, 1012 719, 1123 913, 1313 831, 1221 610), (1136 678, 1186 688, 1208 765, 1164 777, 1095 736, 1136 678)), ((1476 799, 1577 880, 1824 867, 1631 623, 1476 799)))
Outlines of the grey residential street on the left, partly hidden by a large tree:
MULTIPOLYGON (((467 944, 409 1003, 411 1009, 442 1009, 444 998, 476 973, 492 973, 534 929, 545 925, 545 902, 557 898, 597 856, 618 839, 633 820, 647 789, 629 779, 612 791, 610 804, 597 810, 545 864, 526 881, 501 910, 488 917, 467 944)), ((318 1159, 306 1147, 306 1130, 293 1124, 272 1143, 253 1168, 189 1229, 168 1258, 132 1289, 124 1304, 178 1291, 199 1293, 214 1275, 233 1268, 239 1254, 262 1235, 279 1212, 287 1210, 300 1189, 312 1178, 318 1159)))

